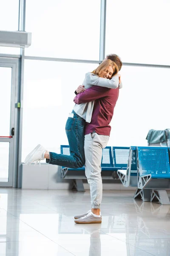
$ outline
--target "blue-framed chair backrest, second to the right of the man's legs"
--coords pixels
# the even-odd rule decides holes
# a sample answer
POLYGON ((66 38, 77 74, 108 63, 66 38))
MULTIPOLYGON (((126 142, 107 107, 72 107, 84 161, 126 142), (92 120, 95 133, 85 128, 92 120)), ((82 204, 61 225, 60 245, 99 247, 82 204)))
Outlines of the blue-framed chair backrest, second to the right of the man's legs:
POLYGON ((113 162, 114 167, 127 167, 129 159, 129 147, 113 147, 113 162))

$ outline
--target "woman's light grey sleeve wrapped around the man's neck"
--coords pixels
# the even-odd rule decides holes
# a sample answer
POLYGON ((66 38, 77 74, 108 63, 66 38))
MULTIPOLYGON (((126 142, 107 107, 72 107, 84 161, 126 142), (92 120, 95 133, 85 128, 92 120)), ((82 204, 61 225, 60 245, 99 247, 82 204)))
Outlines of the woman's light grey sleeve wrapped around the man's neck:
POLYGON ((102 78, 94 75, 93 73, 86 74, 86 82, 91 85, 98 85, 101 87, 107 87, 116 89, 119 86, 119 75, 113 76, 112 79, 102 78))

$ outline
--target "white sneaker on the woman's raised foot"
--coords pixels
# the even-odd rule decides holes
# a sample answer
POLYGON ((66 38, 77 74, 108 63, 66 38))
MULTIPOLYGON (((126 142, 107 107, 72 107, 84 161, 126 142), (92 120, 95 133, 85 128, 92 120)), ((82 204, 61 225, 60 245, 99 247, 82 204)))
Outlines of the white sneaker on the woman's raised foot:
POLYGON ((41 160, 44 160, 42 157, 42 154, 47 151, 46 148, 44 148, 42 145, 38 144, 37 147, 35 147, 26 157, 24 163, 26 165, 30 165, 31 163, 35 162, 35 165, 40 163, 41 160))

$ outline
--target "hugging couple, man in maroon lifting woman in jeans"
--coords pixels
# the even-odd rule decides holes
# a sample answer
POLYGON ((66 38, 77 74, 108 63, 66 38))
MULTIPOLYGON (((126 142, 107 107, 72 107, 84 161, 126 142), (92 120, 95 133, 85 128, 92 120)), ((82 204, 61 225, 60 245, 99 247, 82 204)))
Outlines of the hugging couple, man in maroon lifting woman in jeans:
POLYGON ((46 163, 70 168, 85 165, 85 175, 90 185, 91 209, 74 216, 77 224, 102 223, 100 205, 102 202, 101 161, 102 148, 108 144, 114 107, 122 88, 120 75, 122 61, 116 54, 107 55, 85 79, 74 98, 75 106, 69 113, 65 131, 70 146, 70 155, 49 152, 37 145, 26 157, 25 163, 46 163))

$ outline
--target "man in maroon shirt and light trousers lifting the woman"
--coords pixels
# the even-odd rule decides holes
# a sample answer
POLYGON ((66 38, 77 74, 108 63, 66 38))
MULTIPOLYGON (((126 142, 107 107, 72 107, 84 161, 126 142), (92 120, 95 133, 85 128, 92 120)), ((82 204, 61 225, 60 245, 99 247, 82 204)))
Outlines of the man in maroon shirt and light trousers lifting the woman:
MULTIPOLYGON (((109 55, 117 60, 117 55, 109 55)), ((106 57, 108 58, 108 56, 106 57)), ((116 62, 116 61, 114 61, 116 62)), ((121 69, 122 62, 116 63, 121 69)), ((75 216, 77 224, 101 223, 100 204, 102 202, 101 161, 102 148, 105 148, 111 131, 109 125, 113 116, 114 107, 119 97, 119 88, 109 89, 92 86, 85 90, 79 86, 74 98, 76 104, 95 100, 91 123, 85 126, 85 175, 88 179, 91 192, 91 210, 75 216), (81 93, 80 93, 81 91, 81 93)))

